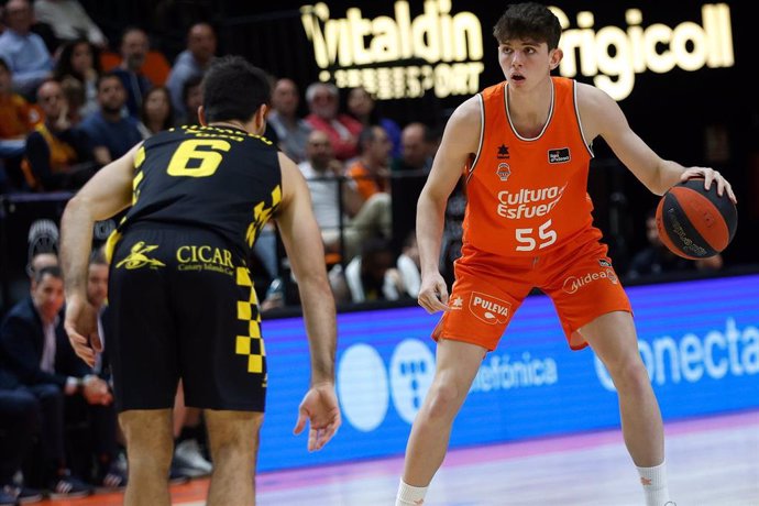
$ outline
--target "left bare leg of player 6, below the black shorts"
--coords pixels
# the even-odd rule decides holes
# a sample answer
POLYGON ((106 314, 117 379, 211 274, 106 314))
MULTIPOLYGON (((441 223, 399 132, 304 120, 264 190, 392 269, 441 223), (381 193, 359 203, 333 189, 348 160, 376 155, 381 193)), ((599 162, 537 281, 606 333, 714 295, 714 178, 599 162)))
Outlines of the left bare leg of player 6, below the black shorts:
POLYGON ((119 415, 127 438, 129 482, 124 506, 168 506, 172 463, 170 409, 134 409, 119 415))

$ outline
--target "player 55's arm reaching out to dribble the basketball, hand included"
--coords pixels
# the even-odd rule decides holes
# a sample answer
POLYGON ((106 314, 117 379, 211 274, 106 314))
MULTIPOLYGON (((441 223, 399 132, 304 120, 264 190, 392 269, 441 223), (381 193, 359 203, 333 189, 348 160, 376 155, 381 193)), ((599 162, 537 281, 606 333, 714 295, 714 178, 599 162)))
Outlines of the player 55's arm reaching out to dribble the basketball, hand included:
POLYGON ((646 187, 656 195, 663 195, 673 185, 692 177, 703 177, 704 187, 717 185, 717 193, 736 201, 733 187, 718 172, 710 167, 684 167, 676 162, 662 160, 631 129, 608 95, 590 85, 578 84, 578 101, 585 138, 591 141, 601 135, 646 187))

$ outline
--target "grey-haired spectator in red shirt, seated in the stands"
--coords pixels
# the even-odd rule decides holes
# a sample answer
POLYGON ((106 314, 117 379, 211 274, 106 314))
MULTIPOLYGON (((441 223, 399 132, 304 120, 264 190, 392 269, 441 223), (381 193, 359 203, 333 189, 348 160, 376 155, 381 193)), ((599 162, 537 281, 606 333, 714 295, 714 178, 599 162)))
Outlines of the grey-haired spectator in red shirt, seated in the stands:
POLYGON ((345 162, 359 154, 359 134, 363 127, 348 114, 339 112, 338 88, 329 82, 314 82, 306 89, 310 114, 306 117, 314 130, 327 133, 334 156, 345 162))

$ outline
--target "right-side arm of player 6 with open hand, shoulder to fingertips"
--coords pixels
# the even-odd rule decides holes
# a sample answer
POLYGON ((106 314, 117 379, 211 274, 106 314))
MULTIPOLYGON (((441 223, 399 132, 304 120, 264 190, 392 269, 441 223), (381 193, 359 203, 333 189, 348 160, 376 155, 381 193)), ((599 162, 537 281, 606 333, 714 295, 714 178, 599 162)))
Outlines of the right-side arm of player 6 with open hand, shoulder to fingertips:
POLYGON ((314 218, 306 180, 295 163, 282 154, 279 165, 283 198, 277 223, 298 282, 311 351, 311 386, 300 403, 295 433, 300 433, 309 420, 308 450, 314 451, 327 444, 341 424, 334 394, 334 299, 327 280, 321 233, 314 218))

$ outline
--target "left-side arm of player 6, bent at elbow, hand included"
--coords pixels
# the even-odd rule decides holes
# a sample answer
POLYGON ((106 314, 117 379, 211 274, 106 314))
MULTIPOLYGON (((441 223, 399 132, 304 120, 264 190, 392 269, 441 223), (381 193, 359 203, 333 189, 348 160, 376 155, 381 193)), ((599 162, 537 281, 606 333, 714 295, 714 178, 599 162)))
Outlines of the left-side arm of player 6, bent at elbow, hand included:
POLYGON ((101 168, 66 205, 61 219, 61 261, 66 283, 65 328, 74 351, 90 366, 97 337, 97 312, 87 302, 87 263, 92 248, 92 227, 127 208, 132 201, 134 146, 101 168), (90 341, 91 340, 91 341, 90 341))

